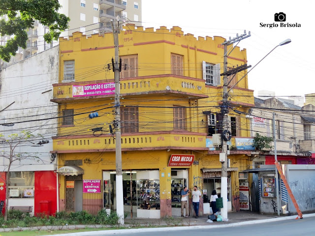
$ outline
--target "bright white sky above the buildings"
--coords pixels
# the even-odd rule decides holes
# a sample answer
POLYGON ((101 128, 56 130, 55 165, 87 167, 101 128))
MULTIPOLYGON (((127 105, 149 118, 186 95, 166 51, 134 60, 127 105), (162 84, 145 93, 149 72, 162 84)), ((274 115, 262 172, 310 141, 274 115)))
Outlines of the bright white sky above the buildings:
MULTIPOLYGON (((285 39, 248 74, 249 89, 275 91, 276 96, 315 93, 315 1, 312 0, 142 0, 143 26, 179 26, 198 36, 236 37, 251 31, 238 46, 247 50, 252 67, 285 39), (275 13, 285 22, 275 22, 275 13), (261 24, 278 27, 260 27, 261 24), (301 27, 281 27, 280 23, 301 27)), ((235 45, 235 44, 234 44, 235 45)))

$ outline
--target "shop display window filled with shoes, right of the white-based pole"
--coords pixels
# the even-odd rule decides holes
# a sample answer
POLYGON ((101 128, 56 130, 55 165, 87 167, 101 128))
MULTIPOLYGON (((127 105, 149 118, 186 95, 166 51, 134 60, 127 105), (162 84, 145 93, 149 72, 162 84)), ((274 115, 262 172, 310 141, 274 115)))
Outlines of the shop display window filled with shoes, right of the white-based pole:
POLYGON ((159 180, 138 179, 137 180, 137 205, 138 209, 159 210, 160 209, 159 180))

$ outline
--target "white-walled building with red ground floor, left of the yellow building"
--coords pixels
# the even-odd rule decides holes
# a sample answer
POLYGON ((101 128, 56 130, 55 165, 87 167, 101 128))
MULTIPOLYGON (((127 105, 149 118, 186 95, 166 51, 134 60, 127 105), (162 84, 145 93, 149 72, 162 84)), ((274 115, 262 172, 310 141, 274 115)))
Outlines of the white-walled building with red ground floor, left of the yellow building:
MULTIPOLYGON (((56 155, 50 153, 53 148, 51 136, 57 133, 57 119, 51 118, 58 116, 58 107, 50 99, 52 84, 58 81, 58 67, 59 46, 56 46, 0 71, 0 134, 8 137, 26 130, 42 135, 42 139, 30 140, 15 149, 16 153, 37 156, 38 161, 13 162, 9 186, 5 184, 8 160, 0 160, 0 199, 5 200, 6 187, 10 192, 6 209, 30 206, 33 214, 55 213, 58 209, 56 155), (50 142, 38 145, 41 140, 50 142), (41 205, 42 201, 48 201, 49 212, 41 205)), ((0 144, 0 150, 7 150, 5 144, 0 144)))

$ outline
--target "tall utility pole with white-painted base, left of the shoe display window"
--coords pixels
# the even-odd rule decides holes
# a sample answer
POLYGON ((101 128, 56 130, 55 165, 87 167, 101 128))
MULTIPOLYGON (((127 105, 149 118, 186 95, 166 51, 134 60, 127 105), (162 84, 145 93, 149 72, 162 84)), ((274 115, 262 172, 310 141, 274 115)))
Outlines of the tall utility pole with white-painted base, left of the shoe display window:
POLYGON ((112 29, 115 45, 115 61, 113 63, 115 77, 115 122, 116 122, 116 205, 117 215, 119 216, 120 225, 124 225, 124 197, 123 197, 123 171, 122 171, 122 133, 121 133, 121 118, 120 118, 120 82, 119 82, 119 44, 118 35, 119 17, 117 20, 112 20, 112 29))

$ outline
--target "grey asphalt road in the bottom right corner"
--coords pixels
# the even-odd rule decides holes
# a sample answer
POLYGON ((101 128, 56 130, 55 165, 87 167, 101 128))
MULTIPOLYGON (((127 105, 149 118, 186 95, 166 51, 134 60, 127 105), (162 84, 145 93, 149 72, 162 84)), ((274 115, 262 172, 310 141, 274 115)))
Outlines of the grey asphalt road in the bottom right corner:
MULTIPOLYGON (((228 225, 226 225, 228 226, 228 225)), ((315 236, 315 217, 308 217, 297 220, 284 220, 270 223, 224 227, 208 228, 178 231, 157 231, 148 233, 122 234, 124 236, 192 236, 192 235, 214 235, 214 236, 315 236)), ((158 229, 157 229, 158 230, 158 229)), ((113 234, 117 235, 117 234, 113 234)), ((99 235, 103 236, 103 235, 99 235)), ((105 236, 105 235, 104 235, 105 236)), ((108 236, 108 234, 106 234, 108 236)))

